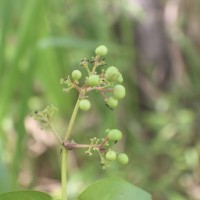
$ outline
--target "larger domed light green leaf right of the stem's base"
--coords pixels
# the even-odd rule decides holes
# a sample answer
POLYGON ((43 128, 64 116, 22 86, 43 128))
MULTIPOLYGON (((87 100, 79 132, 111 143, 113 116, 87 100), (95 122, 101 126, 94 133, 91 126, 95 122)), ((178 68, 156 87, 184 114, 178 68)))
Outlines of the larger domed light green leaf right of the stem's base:
POLYGON ((151 195, 121 178, 106 178, 84 190, 78 200, 151 200, 151 195))

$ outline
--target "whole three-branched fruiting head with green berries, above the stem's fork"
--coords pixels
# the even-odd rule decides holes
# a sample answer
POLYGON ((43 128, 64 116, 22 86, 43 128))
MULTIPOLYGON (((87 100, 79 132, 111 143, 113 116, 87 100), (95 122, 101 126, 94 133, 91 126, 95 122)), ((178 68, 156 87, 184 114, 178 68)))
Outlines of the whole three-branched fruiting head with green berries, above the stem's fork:
POLYGON ((88 99, 89 92, 93 90, 100 92, 106 105, 110 109, 116 108, 118 106, 118 101, 123 99, 126 95, 125 87, 122 85, 123 77, 120 71, 114 66, 109 66, 104 69, 106 66, 104 56, 107 52, 107 47, 101 45, 96 48, 95 57, 92 57, 91 60, 86 58, 81 60, 80 67, 86 70, 86 76, 83 76, 83 73, 76 69, 72 71, 71 76, 61 79, 61 84, 67 85, 67 87, 63 89, 65 92, 76 89, 79 93, 64 140, 60 138, 56 129, 50 122, 50 118, 56 111, 55 107, 47 107, 43 111, 34 113, 34 117, 40 120, 43 125, 50 126, 60 144, 63 145, 65 149, 88 148, 86 151, 88 155, 92 155, 93 151, 97 151, 100 155, 103 168, 108 167, 110 161, 117 160, 123 165, 127 164, 129 161, 128 156, 125 153, 117 154, 110 148, 110 143, 115 144, 122 139, 122 132, 120 130, 108 129, 106 130, 106 136, 102 140, 95 137, 90 140, 90 144, 73 143, 69 138, 78 109, 80 108, 80 110, 88 111, 91 108, 91 103, 88 99))

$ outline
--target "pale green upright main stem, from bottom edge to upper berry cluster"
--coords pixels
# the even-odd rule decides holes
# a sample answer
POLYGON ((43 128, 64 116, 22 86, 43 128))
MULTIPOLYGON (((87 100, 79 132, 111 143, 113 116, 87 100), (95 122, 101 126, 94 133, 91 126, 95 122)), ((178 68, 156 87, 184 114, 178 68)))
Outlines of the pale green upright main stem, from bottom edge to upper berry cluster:
MULTIPOLYGON (((79 103, 80 103, 80 97, 82 95, 82 90, 79 93, 79 97, 77 99, 76 105, 74 107, 71 119, 69 121, 69 125, 67 128, 67 132, 65 134, 65 140, 68 140, 71 132, 72 132, 72 128, 74 126, 74 122, 78 113, 78 109, 79 109, 79 103)), ((62 182, 62 200, 67 200, 67 155, 68 155, 68 150, 66 148, 62 148, 62 157, 61 157, 61 182, 62 182)))

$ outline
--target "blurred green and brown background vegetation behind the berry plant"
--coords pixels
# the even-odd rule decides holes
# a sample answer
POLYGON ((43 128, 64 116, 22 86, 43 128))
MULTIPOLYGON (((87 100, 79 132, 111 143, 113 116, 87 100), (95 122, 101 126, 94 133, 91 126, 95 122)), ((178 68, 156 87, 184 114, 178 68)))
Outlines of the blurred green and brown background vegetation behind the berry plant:
POLYGON ((199 0, 1 0, 0 192, 30 188, 59 199, 60 148, 30 112, 53 104, 64 134, 76 92, 60 79, 104 44, 127 88, 115 111, 93 94, 79 113, 74 140, 88 143, 106 128, 125 137, 130 164, 104 171, 98 156, 70 152, 69 196, 107 176, 121 176, 154 200, 200 199, 199 0))

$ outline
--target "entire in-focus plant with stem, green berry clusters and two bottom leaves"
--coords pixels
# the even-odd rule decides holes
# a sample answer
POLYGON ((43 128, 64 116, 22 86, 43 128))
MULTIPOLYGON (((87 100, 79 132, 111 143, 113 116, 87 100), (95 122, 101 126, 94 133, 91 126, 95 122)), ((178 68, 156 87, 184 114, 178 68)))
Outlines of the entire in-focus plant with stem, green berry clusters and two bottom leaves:
MULTIPOLYGON (((103 101, 111 110, 118 106, 118 102, 126 95, 126 89, 122 85, 123 76, 119 69, 114 66, 107 67, 105 55, 107 54, 107 47, 101 45, 95 50, 95 57, 89 59, 82 59, 80 68, 86 70, 86 77, 83 76, 82 71, 76 69, 72 72, 71 76, 61 79, 61 84, 65 85, 64 92, 69 92, 75 89, 78 92, 78 98, 67 127, 64 139, 56 131, 51 123, 51 119, 57 108, 48 106, 42 111, 34 112, 33 117, 42 123, 42 127, 50 127, 55 133, 58 142, 61 145, 61 183, 62 183, 62 200, 67 200, 67 157, 68 152, 73 149, 85 148, 86 154, 91 156, 94 152, 99 154, 100 164, 103 169, 110 166, 111 162, 119 162, 126 165, 129 162, 127 154, 120 152, 117 153, 113 150, 113 145, 122 139, 122 132, 116 128, 105 130, 104 138, 93 137, 90 139, 89 144, 75 143, 72 140, 72 129, 75 124, 75 119, 79 110, 88 111, 92 108, 89 100, 89 94, 92 91, 98 91, 102 96, 103 101)), ((0 195, 0 200, 9 200, 12 195, 25 195, 26 200, 48 200, 51 199, 44 193, 22 191, 21 193, 7 193, 0 195), (29 194, 29 195, 28 195, 29 194), (34 196, 35 195, 35 196, 34 196), (43 196, 42 196, 43 195, 43 196), (46 196, 45 196, 46 195, 46 196), (6 197, 5 197, 6 196, 6 197), (8 198, 7 198, 8 197, 8 198)), ((22 198, 21 198, 22 199, 22 198)), ((78 200, 150 200, 150 195, 131 185, 120 178, 107 178, 98 181, 89 186, 83 191, 78 200), (112 186, 112 187, 111 187, 112 186), (108 189, 109 188, 109 189, 108 189)))

